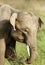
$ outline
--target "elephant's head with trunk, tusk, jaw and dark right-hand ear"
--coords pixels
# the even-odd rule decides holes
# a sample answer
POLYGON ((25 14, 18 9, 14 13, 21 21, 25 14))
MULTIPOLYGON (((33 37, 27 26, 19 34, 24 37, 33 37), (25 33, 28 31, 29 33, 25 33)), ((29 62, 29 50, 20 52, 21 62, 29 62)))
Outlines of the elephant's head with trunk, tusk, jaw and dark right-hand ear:
POLYGON ((31 12, 19 12, 15 19, 16 31, 12 32, 12 36, 15 40, 24 42, 27 45, 29 58, 24 58, 27 63, 32 63, 36 58, 36 35, 42 24, 42 20, 31 12))

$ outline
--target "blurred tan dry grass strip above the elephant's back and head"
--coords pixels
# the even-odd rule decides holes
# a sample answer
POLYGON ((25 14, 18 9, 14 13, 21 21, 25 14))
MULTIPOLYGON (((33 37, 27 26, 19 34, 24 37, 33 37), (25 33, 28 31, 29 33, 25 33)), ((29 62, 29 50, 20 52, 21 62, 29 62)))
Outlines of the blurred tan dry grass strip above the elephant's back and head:
POLYGON ((17 9, 45 11, 45 0, 0 0, 0 3, 7 3, 17 9))

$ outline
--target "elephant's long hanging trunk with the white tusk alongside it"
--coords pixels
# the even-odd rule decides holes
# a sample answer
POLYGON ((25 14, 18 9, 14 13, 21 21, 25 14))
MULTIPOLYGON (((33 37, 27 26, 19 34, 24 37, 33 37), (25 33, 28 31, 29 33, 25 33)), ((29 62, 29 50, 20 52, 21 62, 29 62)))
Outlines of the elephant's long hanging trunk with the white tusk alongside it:
POLYGON ((29 58, 26 62, 32 63, 37 56, 36 33, 34 31, 27 37, 27 44, 29 58))

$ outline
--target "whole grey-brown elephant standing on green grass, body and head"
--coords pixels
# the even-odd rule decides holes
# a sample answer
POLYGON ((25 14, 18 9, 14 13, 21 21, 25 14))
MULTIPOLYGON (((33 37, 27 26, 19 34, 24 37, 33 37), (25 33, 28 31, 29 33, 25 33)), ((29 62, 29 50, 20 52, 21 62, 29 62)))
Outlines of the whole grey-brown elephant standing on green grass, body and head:
POLYGON ((41 27, 41 24, 41 19, 30 12, 20 12, 8 5, 0 5, 0 25, 3 26, 3 28, 6 26, 6 28, 4 28, 6 31, 9 27, 7 31, 8 34, 3 28, 1 29, 0 27, 0 29, 5 32, 3 37, 3 34, 0 31, 0 65, 4 65, 4 57, 8 58, 9 61, 15 60, 16 51, 14 52, 14 50, 16 41, 24 42, 29 46, 30 56, 24 61, 26 61, 27 63, 33 62, 37 54, 36 34, 38 28, 41 27), (15 26, 11 25, 13 23, 11 23, 12 19, 10 20, 13 13, 17 14, 15 19, 13 17, 13 19, 15 20, 15 26), (8 22, 9 26, 7 25, 7 23, 5 23, 5 25, 1 24, 2 21, 4 23, 8 22), (12 30, 14 27, 16 30, 12 30))

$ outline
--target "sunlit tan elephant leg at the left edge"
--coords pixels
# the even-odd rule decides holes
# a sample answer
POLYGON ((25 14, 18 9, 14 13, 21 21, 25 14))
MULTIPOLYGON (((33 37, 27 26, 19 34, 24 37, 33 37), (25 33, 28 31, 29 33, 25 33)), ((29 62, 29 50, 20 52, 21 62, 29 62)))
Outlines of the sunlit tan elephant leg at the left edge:
POLYGON ((0 65, 4 65, 5 60, 5 41, 0 39, 0 65))

